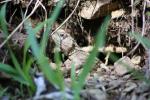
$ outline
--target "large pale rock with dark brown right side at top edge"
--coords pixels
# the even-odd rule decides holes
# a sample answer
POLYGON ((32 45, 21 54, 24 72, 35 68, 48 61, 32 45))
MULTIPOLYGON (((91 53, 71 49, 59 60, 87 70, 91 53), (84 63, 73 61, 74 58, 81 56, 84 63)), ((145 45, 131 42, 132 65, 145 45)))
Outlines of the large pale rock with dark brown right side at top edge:
POLYGON ((109 14, 120 7, 121 5, 118 1, 86 0, 84 4, 82 4, 82 8, 78 15, 85 19, 96 19, 109 14))

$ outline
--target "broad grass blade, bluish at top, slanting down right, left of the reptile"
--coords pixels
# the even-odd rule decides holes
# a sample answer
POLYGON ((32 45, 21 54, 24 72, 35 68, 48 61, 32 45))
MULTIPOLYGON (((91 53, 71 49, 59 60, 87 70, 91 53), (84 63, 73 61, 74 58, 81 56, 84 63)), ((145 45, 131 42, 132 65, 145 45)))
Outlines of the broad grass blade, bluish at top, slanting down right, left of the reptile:
MULTIPOLYGON (((30 22, 28 22, 28 23, 30 23, 30 22)), ((27 25, 30 25, 30 24, 25 24, 25 27, 27 27, 27 25)), ((29 41, 32 52, 39 64, 40 69, 42 70, 42 72, 44 73, 46 78, 51 83, 58 85, 58 84, 60 84, 59 80, 58 80, 58 76, 50 67, 47 57, 45 57, 44 54, 41 52, 40 47, 39 47, 36 37, 35 37, 36 32, 38 32, 42 28, 43 25, 44 24, 41 23, 36 28, 34 28, 34 29, 31 28, 29 30, 28 30, 28 28, 26 28, 26 31, 29 34, 27 41, 29 41)))

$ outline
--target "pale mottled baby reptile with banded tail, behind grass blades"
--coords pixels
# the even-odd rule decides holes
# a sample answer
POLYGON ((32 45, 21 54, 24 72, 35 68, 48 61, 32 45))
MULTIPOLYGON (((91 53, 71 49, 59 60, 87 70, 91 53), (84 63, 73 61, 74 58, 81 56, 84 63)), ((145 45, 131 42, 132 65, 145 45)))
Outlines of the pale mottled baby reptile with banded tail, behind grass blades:
MULTIPOLYGON (((71 37, 70 34, 66 33, 64 30, 60 29, 52 35, 52 39, 56 44, 56 47, 64 53, 68 59, 63 63, 66 70, 70 70, 72 64, 76 69, 82 67, 85 63, 90 51, 92 51, 93 46, 79 47, 76 41, 71 37)), ((99 52, 105 52, 110 54, 110 52, 124 53, 127 49, 124 47, 115 47, 110 45, 108 47, 99 48, 99 52)), ((108 56, 106 56, 106 64, 108 62, 108 56)), ((95 63, 101 62, 99 59, 95 59, 95 63)))

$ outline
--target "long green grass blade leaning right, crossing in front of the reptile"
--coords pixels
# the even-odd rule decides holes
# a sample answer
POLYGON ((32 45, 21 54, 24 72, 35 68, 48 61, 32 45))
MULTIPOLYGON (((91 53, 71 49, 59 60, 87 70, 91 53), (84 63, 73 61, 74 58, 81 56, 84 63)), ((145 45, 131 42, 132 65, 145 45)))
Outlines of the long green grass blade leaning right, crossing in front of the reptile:
POLYGON ((98 31, 98 35, 96 37, 96 44, 95 44, 92 52, 90 53, 89 57, 87 58, 84 66, 83 66, 83 70, 82 70, 81 74, 79 75, 78 88, 75 89, 76 95, 77 95, 77 93, 79 94, 80 90, 82 89, 82 87, 84 85, 87 75, 91 71, 92 66, 94 66, 94 62, 95 62, 96 56, 98 54, 98 48, 104 46, 105 35, 107 33, 109 21, 110 21, 110 16, 107 16, 105 18, 103 24, 101 25, 100 30, 98 31))

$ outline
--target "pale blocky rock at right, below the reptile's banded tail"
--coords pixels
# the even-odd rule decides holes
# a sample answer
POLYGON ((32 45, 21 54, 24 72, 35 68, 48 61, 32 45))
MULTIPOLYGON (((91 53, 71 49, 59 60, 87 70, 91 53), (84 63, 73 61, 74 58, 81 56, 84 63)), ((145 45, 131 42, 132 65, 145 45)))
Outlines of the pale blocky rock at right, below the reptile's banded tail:
POLYGON ((114 63, 114 67, 116 74, 122 76, 135 68, 135 65, 131 62, 129 57, 124 56, 114 63))

